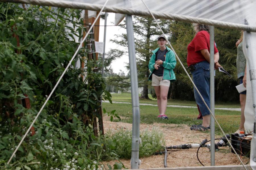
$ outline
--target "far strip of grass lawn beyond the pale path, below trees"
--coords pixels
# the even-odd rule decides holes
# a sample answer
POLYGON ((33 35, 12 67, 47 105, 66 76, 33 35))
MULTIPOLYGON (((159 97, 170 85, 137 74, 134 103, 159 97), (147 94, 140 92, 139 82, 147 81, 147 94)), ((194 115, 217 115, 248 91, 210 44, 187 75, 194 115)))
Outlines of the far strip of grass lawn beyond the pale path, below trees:
MULTIPOLYGON (((113 93, 112 101, 119 102, 129 102, 131 103, 131 93, 113 93)), ((140 96, 140 94, 139 94, 140 96)), ((156 105, 156 99, 152 98, 150 94, 148 94, 150 99, 140 99, 140 103, 148 103, 156 105)), ((197 106, 195 101, 185 101, 185 100, 177 100, 177 99, 169 99, 167 105, 180 105, 180 106, 197 106)), ((215 107, 226 107, 226 108, 240 108, 239 103, 224 103, 224 102, 216 102, 215 107)))

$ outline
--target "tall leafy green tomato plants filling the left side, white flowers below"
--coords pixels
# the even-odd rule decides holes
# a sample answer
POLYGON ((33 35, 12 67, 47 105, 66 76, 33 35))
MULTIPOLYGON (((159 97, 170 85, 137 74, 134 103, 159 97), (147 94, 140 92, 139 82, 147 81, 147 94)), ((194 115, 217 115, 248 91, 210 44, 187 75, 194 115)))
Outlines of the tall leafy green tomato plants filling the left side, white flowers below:
POLYGON ((79 45, 74 36, 82 36, 80 13, 36 5, 24 10, 19 4, 0 3, 1 169, 103 168, 98 162, 104 139, 94 136, 92 120, 99 118, 100 100, 111 102, 111 95, 105 79, 92 70, 97 62, 87 62, 86 75, 75 67, 76 61, 86 56, 84 49, 34 124, 35 135, 25 138, 7 165, 79 45), (31 108, 24 107, 24 98, 30 100, 31 108))

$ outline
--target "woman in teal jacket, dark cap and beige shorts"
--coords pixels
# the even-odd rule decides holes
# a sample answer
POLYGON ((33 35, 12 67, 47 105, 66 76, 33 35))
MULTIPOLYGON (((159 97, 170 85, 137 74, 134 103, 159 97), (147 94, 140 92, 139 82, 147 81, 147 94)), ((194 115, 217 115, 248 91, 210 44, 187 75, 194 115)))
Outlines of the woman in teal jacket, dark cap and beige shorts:
POLYGON ((151 73, 148 80, 152 81, 154 86, 157 105, 159 110, 158 118, 168 119, 165 115, 167 106, 167 94, 170 82, 176 80, 173 69, 176 65, 174 52, 166 45, 166 39, 163 35, 158 37, 157 44, 159 45, 153 52, 149 61, 148 68, 151 73))

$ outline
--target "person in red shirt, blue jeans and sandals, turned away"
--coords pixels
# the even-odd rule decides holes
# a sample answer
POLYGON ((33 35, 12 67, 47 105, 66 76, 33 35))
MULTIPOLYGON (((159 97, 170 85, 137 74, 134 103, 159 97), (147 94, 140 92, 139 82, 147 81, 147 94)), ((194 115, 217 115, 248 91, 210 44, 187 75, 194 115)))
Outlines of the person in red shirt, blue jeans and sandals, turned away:
MULTIPOLYGON (((210 34, 209 26, 193 24, 196 35, 187 46, 187 65, 193 76, 193 82, 210 108, 210 34)), ((214 68, 218 63, 219 52, 214 43, 214 68)), ((210 129, 210 112, 194 88, 195 101, 203 116, 203 123, 192 125, 191 130, 205 131, 210 129)))

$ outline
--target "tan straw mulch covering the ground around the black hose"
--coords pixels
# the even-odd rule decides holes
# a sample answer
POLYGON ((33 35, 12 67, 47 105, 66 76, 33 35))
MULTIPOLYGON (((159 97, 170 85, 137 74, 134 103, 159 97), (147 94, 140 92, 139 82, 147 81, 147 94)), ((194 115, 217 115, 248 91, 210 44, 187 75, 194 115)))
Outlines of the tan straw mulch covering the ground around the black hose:
MULTIPOLYGON (((191 131, 187 125, 176 124, 141 124, 140 129, 158 127, 165 135, 166 146, 181 145, 187 143, 201 143, 204 139, 210 139, 210 133, 199 131, 191 131)), ((117 131, 118 129, 132 129, 132 124, 123 122, 110 122, 109 118, 104 118, 104 131, 117 131)), ((219 137, 219 136, 218 136, 219 137)), ((215 152, 215 165, 239 165, 237 156, 230 152, 229 147, 222 147, 223 150, 215 152)), ((168 167, 188 167, 188 166, 202 166, 197 160, 197 149, 183 149, 169 151, 167 158, 168 167)), ((210 166, 210 151, 208 148, 202 148, 199 151, 199 159, 205 166, 210 166)), ((164 167, 164 155, 154 155, 147 158, 140 158, 140 168, 160 168, 164 167)), ((249 159, 242 156, 244 164, 249 162, 249 159)), ((113 165, 117 161, 104 162, 113 165)), ((121 162, 125 167, 130 168, 130 160, 123 160, 121 162)))

